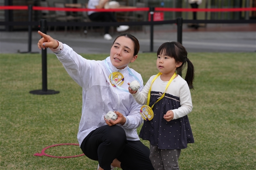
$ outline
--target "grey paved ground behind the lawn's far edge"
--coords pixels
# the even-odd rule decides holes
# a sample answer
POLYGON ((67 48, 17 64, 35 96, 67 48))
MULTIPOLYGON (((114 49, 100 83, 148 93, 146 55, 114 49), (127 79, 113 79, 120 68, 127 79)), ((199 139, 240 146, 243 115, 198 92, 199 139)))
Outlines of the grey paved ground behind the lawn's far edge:
MULTIPOLYGON (((142 31, 128 30, 140 42, 140 53, 150 51, 150 30, 146 26, 146 33, 142 31)), ((108 53, 113 41, 103 40, 103 33, 99 31, 82 32, 63 31, 48 32, 50 36, 68 44, 77 53, 108 53)), ((110 31, 113 38, 120 33, 110 31)), ((37 41, 40 35, 36 31, 32 33, 32 52, 40 52, 37 41)), ((154 26, 154 47, 158 47, 166 41, 177 41, 177 26, 174 24, 154 26)), ((188 52, 255 52, 256 51, 256 24, 208 24, 199 29, 189 28, 183 25, 182 44, 188 52)), ((28 51, 28 32, 0 32, 0 53, 17 53, 28 51)), ((52 53, 50 50, 48 53, 52 53)))

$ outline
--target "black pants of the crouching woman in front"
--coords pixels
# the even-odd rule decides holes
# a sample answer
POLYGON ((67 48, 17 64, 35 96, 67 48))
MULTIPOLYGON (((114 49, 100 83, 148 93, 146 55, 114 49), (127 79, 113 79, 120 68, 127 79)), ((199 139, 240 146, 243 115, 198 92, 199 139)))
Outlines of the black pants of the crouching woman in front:
POLYGON ((100 167, 110 170, 114 159, 121 162, 123 170, 154 170, 149 159, 149 149, 140 141, 128 141, 120 126, 102 126, 93 130, 81 144, 84 154, 98 160, 100 167))

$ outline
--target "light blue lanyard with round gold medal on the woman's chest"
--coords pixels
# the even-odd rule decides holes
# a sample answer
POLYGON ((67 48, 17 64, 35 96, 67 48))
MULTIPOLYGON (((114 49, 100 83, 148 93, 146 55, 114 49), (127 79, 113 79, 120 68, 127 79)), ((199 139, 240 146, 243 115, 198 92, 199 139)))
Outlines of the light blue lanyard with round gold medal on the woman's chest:
MULTIPOLYGON (((124 76, 123 76, 123 74, 120 73, 120 72, 117 72, 117 71, 116 72, 112 72, 112 70, 110 69, 106 59, 105 59, 104 62, 106 64, 107 68, 108 68, 108 71, 110 72, 109 80, 110 80, 111 85, 114 86, 114 87, 117 87, 117 88, 119 88, 121 90, 123 90, 124 92, 129 92, 128 90, 120 87, 124 83, 124 76)), ((132 71, 130 70, 129 67, 127 67, 127 70, 129 72, 129 74, 132 75, 132 77, 134 77, 140 83, 139 78, 137 78, 137 76, 135 76, 132 73, 132 71)))

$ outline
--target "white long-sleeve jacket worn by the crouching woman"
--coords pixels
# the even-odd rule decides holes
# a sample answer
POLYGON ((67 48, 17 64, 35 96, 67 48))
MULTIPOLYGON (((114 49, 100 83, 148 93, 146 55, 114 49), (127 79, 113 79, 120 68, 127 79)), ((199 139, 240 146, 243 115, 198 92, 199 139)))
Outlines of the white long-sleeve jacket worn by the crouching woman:
MULTIPOLYGON (((124 115, 126 122, 120 125, 126 133, 127 140, 138 141, 137 130, 143 119, 140 116, 140 107, 129 92, 113 87, 109 82, 110 72, 103 61, 87 60, 78 55, 72 48, 59 42, 59 47, 51 49, 56 55, 71 78, 83 88, 82 116, 79 124, 77 139, 79 144, 94 129, 107 125, 104 116, 108 111, 118 111, 124 115)), ((110 58, 106 59, 110 69, 119 71, 124 76, 122 88, 128 90, 128 82, 135 80, 129 74, 127 67, 118 70, 114 67, 110 58)), ((130 69, 140 80, 140 90, 143 88, 141 75, 130 69)), ((118 134, 117 134, 118 135, 118 134)))

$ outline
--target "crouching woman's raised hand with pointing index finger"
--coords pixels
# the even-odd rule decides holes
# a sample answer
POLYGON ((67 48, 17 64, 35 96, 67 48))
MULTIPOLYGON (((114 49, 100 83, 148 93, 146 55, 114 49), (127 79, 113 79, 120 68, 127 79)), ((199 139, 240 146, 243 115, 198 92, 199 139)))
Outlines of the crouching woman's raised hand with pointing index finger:
POLYGON ((38 31, 38 33, 43 37, 37 43, 37 46, 40 50, 42 48, 45 49, 48 47, 53 48, 53 49, 56 49, 59 47, 59 42, 54 40, 51 36, 46 35, 46 34, 42 33, 41 31, 38 31))

